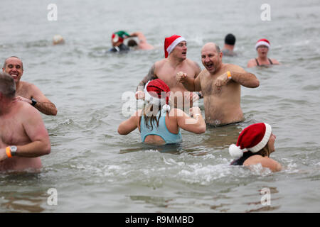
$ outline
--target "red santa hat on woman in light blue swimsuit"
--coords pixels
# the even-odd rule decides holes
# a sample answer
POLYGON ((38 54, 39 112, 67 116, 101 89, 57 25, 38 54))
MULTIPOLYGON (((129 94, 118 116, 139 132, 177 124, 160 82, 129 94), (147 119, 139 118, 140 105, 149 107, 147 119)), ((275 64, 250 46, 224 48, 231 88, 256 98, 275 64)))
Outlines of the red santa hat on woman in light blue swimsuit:
POLYGON ((149 104, 160 105, 164 111, 170 111, 170 89, 161 79, 153 79, 144 87, 144 101, 149 104))

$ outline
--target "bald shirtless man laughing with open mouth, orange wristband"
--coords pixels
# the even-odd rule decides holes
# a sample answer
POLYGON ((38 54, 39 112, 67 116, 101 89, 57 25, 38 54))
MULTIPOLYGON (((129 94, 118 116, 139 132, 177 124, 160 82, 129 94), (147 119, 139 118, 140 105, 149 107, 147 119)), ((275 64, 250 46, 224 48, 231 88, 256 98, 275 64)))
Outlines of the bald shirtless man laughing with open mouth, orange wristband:
POLYGON ((215 43, 203 45, 201 60, 203 70, 196 79, 188 77, 188 72, 178 72, 176 79, 189 91, 202 91, 206 123, 223 126, 243 121, 240 107, 241 86, 259 87, 254 74, 242 67, 222 62, 223 53, 215 43))

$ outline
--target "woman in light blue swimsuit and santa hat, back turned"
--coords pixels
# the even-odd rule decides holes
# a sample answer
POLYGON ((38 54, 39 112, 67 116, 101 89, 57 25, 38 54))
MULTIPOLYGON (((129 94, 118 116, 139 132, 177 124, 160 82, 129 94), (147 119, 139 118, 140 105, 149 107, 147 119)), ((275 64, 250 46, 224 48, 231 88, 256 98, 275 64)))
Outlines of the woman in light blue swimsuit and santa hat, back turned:
POLYGON ((161 79, 149 81, 144 94, 144 109, 136 111, 119 125, 120 135, 127 135, 138 128, 143 143, 164 145, 181 142, 180 128, 197 134, 206 131, 206 123, 198 107, 190 109, 192 117, 180 109, 170 108, 170 89, 161 79))

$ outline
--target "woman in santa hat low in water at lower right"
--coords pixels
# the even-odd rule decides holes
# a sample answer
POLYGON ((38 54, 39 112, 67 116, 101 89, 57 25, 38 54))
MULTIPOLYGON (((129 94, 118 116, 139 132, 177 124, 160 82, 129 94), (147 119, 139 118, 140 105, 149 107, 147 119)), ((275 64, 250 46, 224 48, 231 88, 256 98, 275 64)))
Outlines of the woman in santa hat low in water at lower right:
POLYGON ((272 133, 272 128, 267 123, 254 123, 245 128, 239 135, 237 144, 229 147, 230 155, 235 158, 230 165, 257 165, 267 167, 273 172, 282 169, 279 162, 270 158, 274 152, 274 140, 276 136, 272 133))

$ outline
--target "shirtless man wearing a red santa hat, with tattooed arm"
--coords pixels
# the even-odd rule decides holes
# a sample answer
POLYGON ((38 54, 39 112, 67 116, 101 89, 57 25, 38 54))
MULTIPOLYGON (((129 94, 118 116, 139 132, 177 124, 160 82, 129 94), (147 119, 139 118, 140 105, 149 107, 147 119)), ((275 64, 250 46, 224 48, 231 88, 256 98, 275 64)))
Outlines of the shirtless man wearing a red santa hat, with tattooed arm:
POLYGON ((171 90, 171 101, 175 108, 187 109, 193 106, 193 101, 199 99, 198 94, 187 92, 182 84, 176 81, 176 74, 186 72, 188 78, 198 77, 201 68, 196 62, 186 58, 186 39, 179 35, 172 35, 164 40, 165 58, 152 65, 146 77, 139 83, 136 92, 137 99, 144 98, 144 85, 152 79, 163 80, 171 90), (186 94, 185 94, 186 92, 186 94), (185 101, 186 100, 186 101, 185 101), (187 102, 190 103, 187 104, 187 102))

